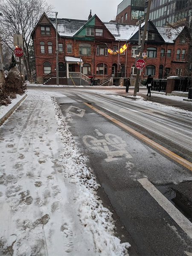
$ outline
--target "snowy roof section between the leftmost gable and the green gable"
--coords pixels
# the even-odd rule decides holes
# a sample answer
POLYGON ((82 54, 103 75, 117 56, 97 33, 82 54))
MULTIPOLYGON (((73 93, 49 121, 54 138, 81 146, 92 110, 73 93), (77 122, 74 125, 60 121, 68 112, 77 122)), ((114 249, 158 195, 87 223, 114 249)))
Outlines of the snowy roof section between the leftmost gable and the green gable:
MULTIPOLYGON (((55 18, 49 18, 56 28, 55 18)), ((73 37, 75 33, 87 22, 87 20, 57 19, 57 30, 61 36, 73 37)))

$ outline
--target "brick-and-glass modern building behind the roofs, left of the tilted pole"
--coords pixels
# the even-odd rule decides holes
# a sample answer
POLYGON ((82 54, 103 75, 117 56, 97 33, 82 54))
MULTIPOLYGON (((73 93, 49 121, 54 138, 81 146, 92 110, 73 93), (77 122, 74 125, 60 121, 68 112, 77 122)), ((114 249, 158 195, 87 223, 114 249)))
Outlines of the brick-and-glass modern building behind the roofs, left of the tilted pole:
POLYGON ((144 9, 144 0, 123 0, 117 7, 116 22, 136 24, 138 20, 144 20, 144 9))

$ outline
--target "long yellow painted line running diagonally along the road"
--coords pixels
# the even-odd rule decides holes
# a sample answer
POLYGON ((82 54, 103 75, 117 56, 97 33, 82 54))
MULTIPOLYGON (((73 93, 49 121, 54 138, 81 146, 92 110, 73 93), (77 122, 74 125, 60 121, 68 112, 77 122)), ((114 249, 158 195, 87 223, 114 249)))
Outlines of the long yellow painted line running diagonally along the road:
POLYGON ((146 143, 148 143, 152 147, 154 147, 157 150, 161 151, 163 154, 166 154, 166 156, 172 158, 177 163, 180 163, 181 165, 185 166, 187 169, 192 171, 192 163, 190 163, 189 161, 183 159, 182 157, 178 156, 177 154, 173 153, 172 151, 168 150, 167 148, 164 148, 163 146, 157 144, 153 140, 150 140, 149 138, 145 137, 143 134, 140 134, 139 132, 137 132, 134 129, 130 128, 129 126, 123 124, 122 122, 119 122, 118 120, 114 119, 113 117, 109 116, 108 114, 100 111, 97 108, 94 108, 90 104, 88 104, 86 102, 84 102, 84 104, 87 105, 88 107, 92 108, 94 111, 96 111, 97 113, 101 114, 102 116, 105 116, 106 118, 108 118, 112 122, 116 123, 117 125, 121 126, 126 131, 129 131, 131 134, 134 134, 136 137, 138 137, 141 140, 145 141, 146 143))

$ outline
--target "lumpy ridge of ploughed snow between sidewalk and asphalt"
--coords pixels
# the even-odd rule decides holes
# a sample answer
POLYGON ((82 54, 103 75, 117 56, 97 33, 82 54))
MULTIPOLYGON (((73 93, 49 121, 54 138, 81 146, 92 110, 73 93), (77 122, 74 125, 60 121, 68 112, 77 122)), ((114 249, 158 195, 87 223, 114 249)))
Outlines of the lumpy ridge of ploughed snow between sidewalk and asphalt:
POLYGON ((86 159, 67 129, 64 116, 55 97, 52 97, 55 109, 55 119, 58 125, 58 136, 64 145, 62 149, 63 167, 65 179, 76 187, 73 193, 72 204, 78 209, 77 215, 83 225, 84 233, 93 236, 95 255, 99 256, 128 256, 129 243, 122 243, 114 236, 115 224, 112 213, 102 205, 96 190, 99 184, 91 172, 87 169, 86 159))

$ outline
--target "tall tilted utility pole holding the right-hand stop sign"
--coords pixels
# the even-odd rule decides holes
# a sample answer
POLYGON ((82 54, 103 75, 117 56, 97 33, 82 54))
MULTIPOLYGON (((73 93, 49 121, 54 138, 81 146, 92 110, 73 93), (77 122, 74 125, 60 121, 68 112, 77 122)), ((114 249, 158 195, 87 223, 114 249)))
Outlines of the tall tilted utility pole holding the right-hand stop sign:
MULTIPOLYGON (((145 26, 144 26, 144 30, 143 30, 143 39, 142 39, 142 43, 141 43, 141 49, 140 49, 140 57, 142 58, 142 52, 144 49, 144 45, 145 45, 145 35, 146 35, 146 31, 147 31, 147 24, 148 24, 148 17, 149 17, 149 11, 150 11, 150 7, 151 7, 151 0, 148 0, 148 7, 147 7, 147 12, 146 12, 146 16, 145 16, 145 26)), ((135 87, 134 87, 134 96, 137 96, 137 89, 139 87, 139 78, 140 78, 140 70, 137 70, 137 76, 135 79, 135 87)))

